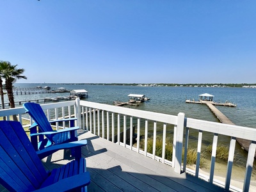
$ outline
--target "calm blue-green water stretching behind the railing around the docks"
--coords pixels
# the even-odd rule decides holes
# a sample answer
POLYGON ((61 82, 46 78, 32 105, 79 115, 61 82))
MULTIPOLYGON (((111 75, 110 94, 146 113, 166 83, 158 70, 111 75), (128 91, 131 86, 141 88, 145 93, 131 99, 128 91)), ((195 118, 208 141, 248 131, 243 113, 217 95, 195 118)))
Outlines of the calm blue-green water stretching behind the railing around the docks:
MULTIPOLYGON (((186 99, 198 100, 198 95, 209 93, 214 95, 215 101, 225 100, 237 104, 236 108, 218 106, 234 124, 256 128, 256 89, 255 88, 202 88, 202 87, 140 87, 140 86, 104 86, 81 84, 14 84, 15 87, 50 86, 51 88, 64 87, 67 90, 85 89, 88 98, 84 100, 112 104, 115 100, 127 101, 130 93, 144 94, 150 100, 142 103, 137 109, 177 115, 185 113, 189 118, 198 118, 218 122, 218 119, 205 105, 186 104, 186 99)), ((31 95, 14 95, 15 101, 28 99, 44 99, 69 95, 69 93, 44 93, 31 95)), ((7 97, 5 95, 5 102, 7 97)), ((17 105, 17 104, 16 104, 17 105)))

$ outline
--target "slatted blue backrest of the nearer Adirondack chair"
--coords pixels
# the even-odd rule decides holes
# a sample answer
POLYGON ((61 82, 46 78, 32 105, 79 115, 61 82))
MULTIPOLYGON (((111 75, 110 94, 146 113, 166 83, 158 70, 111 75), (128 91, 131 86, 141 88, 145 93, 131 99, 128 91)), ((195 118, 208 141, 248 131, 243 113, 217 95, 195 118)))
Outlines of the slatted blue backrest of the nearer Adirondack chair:
POLYGON ((0 121, 1 182, 15 191, 40 187, 47 173, 20 122, 0 121))

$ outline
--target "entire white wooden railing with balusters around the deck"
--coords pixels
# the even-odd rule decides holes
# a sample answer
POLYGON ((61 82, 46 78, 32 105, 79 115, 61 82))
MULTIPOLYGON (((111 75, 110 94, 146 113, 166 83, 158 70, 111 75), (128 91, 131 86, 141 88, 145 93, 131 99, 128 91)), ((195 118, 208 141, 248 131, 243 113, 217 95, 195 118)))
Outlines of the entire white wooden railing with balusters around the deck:
MULTIPOLYGON (((118 145, 122 145, 161 163, 169 164, 177 173, 188 172, 195 175, 195 177, 200 177, 232 191, 249 191, 250 189, 256 148, 256 129, 186 118, 184 113, 179 113, 177 116, 166 115, 79 99, 53 104, 42 104, 42 108, 45 110, 45 114, 49 120, 76 116, 78 118, 77 125, 81 129, 90 131, 97 136, 115 142, 118 145), (191 169, 187 165, 188 148, 191 148, 191 143, 189 143, 189 138, 191 137, 189 133, 191 132, 193 132, 193 137, 195 137, 195 132, 197 135, 197 147, 193 146, 196 148, 197 154, 195 169, 191 169), (200 172, 200 158, 202 157, 201 150, 205 132, 208 135, 207 141, 212 143, 209 174, 202 174, 200 172), (212 136, 209 137, 209 134, 212 136), (227 172, 224 182, 214 178, 216 177, 214 174, 216 150, 220 136, 226 136, 230 140, 227 172), (251 141, 246 167, 244 168, 243 187, 241 188, 230 185, 236 138, 251 141), (173 144, 172 155, 170 157, 167 156, 168 141, 171 141, 173 144), (160 152, 157 147, 159 142, 161 145, 160 152), (182 155, 182 150, 184 155, 182 155)), ((0 110, 0 117, 4 116, 7 120, 10 120, 12 119, 12 115, 17 115, 19 121, 26 127, 32 123, 32 120, 28 114, 24 113, 25 110, 23 108, 3 109, 0 110)), ((56 128, 62 129, 65 127, 56 125, 56 128)))

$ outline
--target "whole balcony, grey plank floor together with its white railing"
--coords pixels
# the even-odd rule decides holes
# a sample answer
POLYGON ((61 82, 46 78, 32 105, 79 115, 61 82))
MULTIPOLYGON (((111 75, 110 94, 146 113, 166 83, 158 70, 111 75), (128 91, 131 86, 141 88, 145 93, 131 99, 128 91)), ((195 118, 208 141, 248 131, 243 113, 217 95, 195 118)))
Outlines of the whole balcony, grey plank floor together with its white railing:
MULTIPOLYGON (((255 178, 252 176, 256 148, 256 129, 237 125, 220 124, 187 118, 184 113, 167 115, 121 108, 108 104, 99 104, 85 100, 70 100, 52 104, 42 104, 49 120, 64 117, 77 117, 76 125, 80 127, 79 140, 88 140, 88 149, 83 148, 87 170, 92 182, 88 191, 255 191, 255 178), (136 129, 133 129, 133 126, 136 129), (127 130, 130 138, 136 132, 136 142, 127 141, 127 130), (196 164, 188 166, 187 154, 190 134, 196 137, 196 164), (162 149, 156 152, 157 135, 161 135, 162 149), (211 134, 207 136, 205 134, 211 134), (115 142, 115 136, 117 139, 115 142), (197 136, 196 136, 197 135, 197 136), (166 141, 172 136, 172 159, 166 159, 166 141), (225 175, 216 173, 216 148, 219 137, 230 140, 228 161, 225 175), (152 150, 148 150, 148 140, 152 139, 152 150), (246 166, 241 168, 237 179, 232 175, 236 138, 251 141, 246 166), (202 143, 212 143, 211 164, 209 172, 200 168, 202 143), (182 157, 182 150, 184 157, 182 157), (242 172, 243 170, 243 172, 242 172)), ((33 120, 25 113, 24 108, 0 110, 0 117, 10 120, 17 115, 24 127, 33 120)), ((68 129, 68 125, 56 124, 56 129, 68 129)), ((55 153, 43 159, 45 167, 51 170, 66 164, 69 156, 55 153)))

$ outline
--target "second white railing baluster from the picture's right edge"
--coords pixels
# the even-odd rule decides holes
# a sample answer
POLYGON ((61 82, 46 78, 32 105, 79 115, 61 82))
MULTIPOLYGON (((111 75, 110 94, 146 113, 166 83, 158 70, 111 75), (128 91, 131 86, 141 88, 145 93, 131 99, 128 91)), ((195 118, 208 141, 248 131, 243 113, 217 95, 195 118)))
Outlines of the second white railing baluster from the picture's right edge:
POLYGON ((231 179, 232 166, 234 161, 235 148, 236 148, 236 138, 231 137, 230 147, 228 152, 227 176, 226 176, 226 182, 225 182, 225 189, 227 191, 230 187, 230 179, 231 179))

